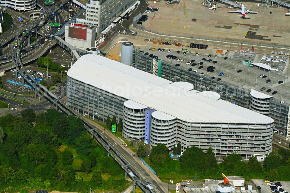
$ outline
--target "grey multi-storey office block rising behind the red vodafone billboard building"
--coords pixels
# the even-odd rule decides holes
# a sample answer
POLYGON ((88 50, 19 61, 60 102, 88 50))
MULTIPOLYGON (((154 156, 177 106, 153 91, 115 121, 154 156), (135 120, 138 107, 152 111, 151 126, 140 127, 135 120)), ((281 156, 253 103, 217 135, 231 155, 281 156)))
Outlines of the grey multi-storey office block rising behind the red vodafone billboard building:
POLYGON ((133 10, 138 3, 137 0, 90 0, 86 3, 86 14, 77 17, 76 23, 96 26, 97 32, 103 32, 116 18, 133 10))

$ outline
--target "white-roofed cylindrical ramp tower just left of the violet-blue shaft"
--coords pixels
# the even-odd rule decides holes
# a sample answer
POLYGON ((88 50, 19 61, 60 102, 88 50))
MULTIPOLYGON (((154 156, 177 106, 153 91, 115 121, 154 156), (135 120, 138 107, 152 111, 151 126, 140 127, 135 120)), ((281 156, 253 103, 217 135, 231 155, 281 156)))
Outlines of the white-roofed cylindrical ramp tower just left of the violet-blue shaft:
POLYGON ((135 101, 124 102, 123 137, 143 140, 145 137, 145 105, 135 101))

